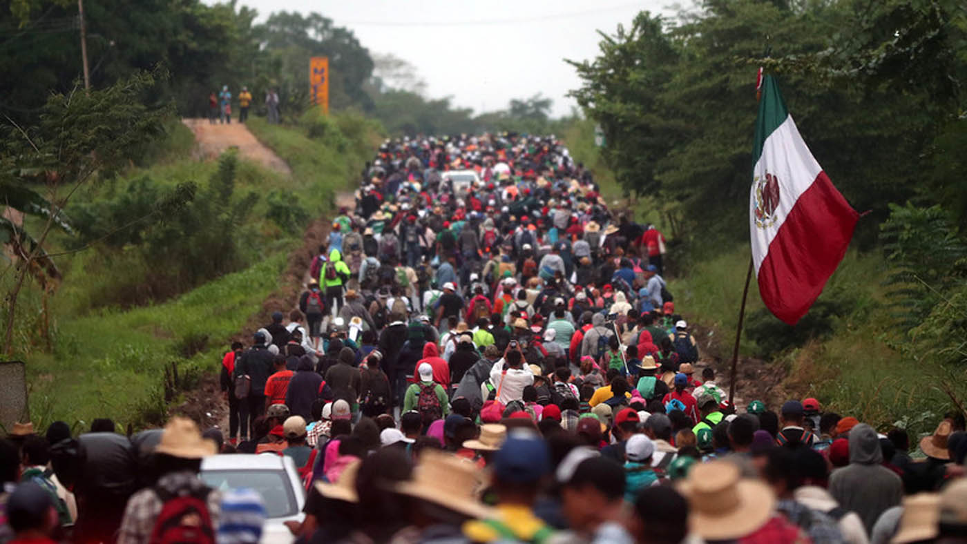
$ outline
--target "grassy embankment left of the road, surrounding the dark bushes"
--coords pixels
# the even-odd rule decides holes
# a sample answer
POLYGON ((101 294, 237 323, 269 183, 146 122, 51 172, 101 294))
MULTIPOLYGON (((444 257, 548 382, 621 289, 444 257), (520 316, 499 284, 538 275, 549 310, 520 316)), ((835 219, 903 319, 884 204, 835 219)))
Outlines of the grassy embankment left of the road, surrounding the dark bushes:
MULTIPOLYGON (((83 428, 99 416, 112 417, 122 426, 160 422, 169 404, 164 399, 164 368, 177 364, 179 387, 191 387, 202 372, 217 371, 227 339, 259 317, 262 301, 278 286, 286 254, 301 241, 300 228, 286 231, 266 217, 268 191, 290 191, 311 219, 331 206, 332 195, 362 169, 374 138, 379 138, 378 127, 355 115, 319 120, 310 113, 295 127, 269 126, 256 118, 249 128, 293 170, 285 178, 244 160, 239 165, 237 192, 255 190, 262 196, 248 226, 250 250, 257 258, 248 268, 138 307, 103 305, 99 297, 130 274, 165 263, 126 258, 128 251, 105 260, 96 247, 59 258, 64 281, 50 301, 52 345, 47 349, 29 333, 18 344, 22 348, 17 357, 27 362, 35 424, 43 428, 63 419, 83 428)), ((79 198, 103 198, 144 175, 170 186, 204 182, 217 164, 186 158, 190 145, 190 131, 177 124, 152 164, 133 168, 79 198)), ((63 240, 53 241, 55 250, 59 243, 63 240)), ((40 307, 40 294, 25 293, 21 304, 18 315, 29 314, 40 307)))

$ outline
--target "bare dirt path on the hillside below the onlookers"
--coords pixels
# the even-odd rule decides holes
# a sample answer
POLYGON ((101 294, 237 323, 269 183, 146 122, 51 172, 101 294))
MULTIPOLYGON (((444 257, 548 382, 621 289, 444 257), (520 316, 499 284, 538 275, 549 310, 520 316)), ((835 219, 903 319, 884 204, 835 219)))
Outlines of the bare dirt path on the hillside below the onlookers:
POLYGON ((182 123, 194 132, 195 157, 208 160, 219 157, 225 150, 238 149, 242 157, 282 174, 292 174, 289 165, 241 123, 212 125, 207 119, 183 119, 182 123))

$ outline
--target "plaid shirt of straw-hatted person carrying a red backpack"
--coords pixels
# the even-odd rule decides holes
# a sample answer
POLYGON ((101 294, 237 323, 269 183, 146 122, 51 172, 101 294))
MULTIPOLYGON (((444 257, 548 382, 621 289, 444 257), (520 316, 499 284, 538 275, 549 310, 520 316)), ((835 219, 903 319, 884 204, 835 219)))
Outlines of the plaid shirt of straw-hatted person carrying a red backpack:
MULTIPOLYGON (((168 493, 179 490, 200 490, 205 484, 198 476, 191 472, 171 472, 161 476, 157 487, 168 493)), ((219 514, 221 511, 221 492, 212 490, 208 493, 208 514, 212 518, 213 529, 219 528, 219 514)), ((161 514, 164 503, 154 488, 142 489, 131 496, 128 506, 124 510, 124 520, 118 531, 117 544, 147 544, 151 540, 151 531, 155 529, 155 522, 161 514)))

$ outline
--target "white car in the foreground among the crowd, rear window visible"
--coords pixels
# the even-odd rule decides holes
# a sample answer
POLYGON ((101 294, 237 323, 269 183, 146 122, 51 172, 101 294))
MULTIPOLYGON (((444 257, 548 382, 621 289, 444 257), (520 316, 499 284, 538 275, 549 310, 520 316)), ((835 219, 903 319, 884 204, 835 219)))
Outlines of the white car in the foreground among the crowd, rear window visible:
POLYGON ((285 522, 302 523, 306 493, 291 457, 262 453, 213 455, 201 461, 201 479, 209 487, 225 490, 249 488, 262 496, 268 519, 262 542, 288 544, 295 540, 285 522))

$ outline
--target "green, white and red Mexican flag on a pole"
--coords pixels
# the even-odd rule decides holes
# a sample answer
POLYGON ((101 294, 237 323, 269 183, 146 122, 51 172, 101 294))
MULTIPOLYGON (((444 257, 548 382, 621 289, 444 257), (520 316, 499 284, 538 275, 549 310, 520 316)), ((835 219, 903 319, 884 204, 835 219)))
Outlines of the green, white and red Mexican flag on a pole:
POLYGON ((809 153, 771 75, 762 82, 752 158, 748 230, 759 293, 795 325, 835 272, 860 215, 809 153))

